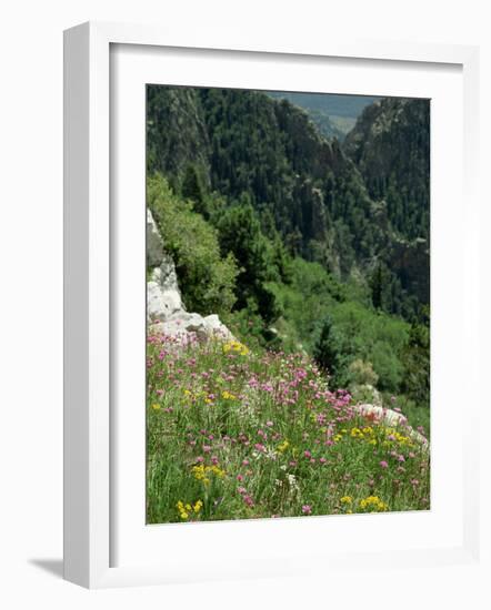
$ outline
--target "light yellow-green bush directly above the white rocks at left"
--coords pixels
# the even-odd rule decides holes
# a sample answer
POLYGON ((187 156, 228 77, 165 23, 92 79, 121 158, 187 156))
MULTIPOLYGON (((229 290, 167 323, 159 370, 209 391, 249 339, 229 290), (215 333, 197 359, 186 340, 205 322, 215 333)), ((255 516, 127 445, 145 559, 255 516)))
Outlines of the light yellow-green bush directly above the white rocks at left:
POLYGON ((148 179, 147 202, 176 263, 187 308, 204 315, 230 312, 238 268, 232 254, 221 256, 217 231, 160 174, 148 179))

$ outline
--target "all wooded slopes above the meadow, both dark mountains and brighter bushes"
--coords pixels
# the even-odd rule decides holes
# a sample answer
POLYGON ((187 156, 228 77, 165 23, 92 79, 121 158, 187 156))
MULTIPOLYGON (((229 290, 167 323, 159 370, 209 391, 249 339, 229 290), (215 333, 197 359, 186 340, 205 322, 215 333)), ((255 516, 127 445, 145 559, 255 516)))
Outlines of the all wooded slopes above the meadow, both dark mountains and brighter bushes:
POLYGON ((429 213, 428 104, 368 106, 343 149, 261 92, 150 87, 148 110, 149 166, 180 193, 159 183, 167 204, 149 204, 188 307, 258 348, 321 342, 338 383, 378 378, 428 405, 429 331, 401 319, 421 324, 429 292, 428 245, 413 240, 429 213))

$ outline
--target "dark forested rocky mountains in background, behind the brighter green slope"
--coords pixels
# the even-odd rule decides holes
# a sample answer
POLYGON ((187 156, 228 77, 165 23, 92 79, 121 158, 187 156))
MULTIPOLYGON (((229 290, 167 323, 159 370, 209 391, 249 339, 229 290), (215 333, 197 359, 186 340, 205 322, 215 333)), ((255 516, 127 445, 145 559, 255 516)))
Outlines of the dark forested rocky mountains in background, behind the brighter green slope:
MULTIPOLYGON (((307 98, 314 111, 332 103, 337 114, 343 104, 361 108, 370 101, 307 98)), ((394 231, 408 247, 414 236, 428 236, 428 116, 425 101, 383 99, 369 105, 348 135, 347 155, 285 99, 152 85, 148 164, 178 192, 182 185, 204 217, 221 211, 217 193, 226 206, 246 196, 261 223, 269 214, 264 225, 272 242, 278 234, 290 255, 318 261, 343 279, 353 270, 370 274, 377 258, 388 270, 381 308, 409 319, 418 314, 418 301, 429 299, 428 261, 401 254, 393 241, 394 231)))

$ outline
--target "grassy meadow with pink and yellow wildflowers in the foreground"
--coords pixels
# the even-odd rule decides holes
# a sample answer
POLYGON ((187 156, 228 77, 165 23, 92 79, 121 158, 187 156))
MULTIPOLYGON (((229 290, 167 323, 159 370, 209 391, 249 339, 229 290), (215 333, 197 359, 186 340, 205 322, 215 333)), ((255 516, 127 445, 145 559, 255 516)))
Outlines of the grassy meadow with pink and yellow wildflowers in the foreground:
POLYGON ((148 338, 149 523, 429 508, 429 451, 305 355, 148 338))

